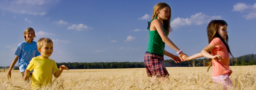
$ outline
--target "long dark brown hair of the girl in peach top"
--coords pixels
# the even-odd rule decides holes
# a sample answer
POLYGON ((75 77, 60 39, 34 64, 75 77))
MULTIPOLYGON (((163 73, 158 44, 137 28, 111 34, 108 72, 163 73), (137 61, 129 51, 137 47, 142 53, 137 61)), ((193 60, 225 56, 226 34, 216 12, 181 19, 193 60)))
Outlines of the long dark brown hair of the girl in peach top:
MULTIPOLYGON (((231 56, 234 58, 234 56, 230 52, 230 48, 228 46, 228 35, 227 35, 226 39, 222 39, 220 34, 218 34, 218 29, 220 28, 220 26, 224 26, 224 25, 228 26, 228 24, 224 20, 212 20, 208 24, 208 26, 207 26, 208 42, 210 44, 211 41, 213 41, 213 39, 220 38, 220 40, 225 44, 226 48, 228 49, 228 53, 231 54, 231 56)), ((210 51, 210 53, 211 53, 211 51, 210 51)), ((209 59, 209 62, 207 63, 207 65, 209 66, 207 71, 209 71, 209 68, 212 65, 212 59, 211 58, 209 59)))

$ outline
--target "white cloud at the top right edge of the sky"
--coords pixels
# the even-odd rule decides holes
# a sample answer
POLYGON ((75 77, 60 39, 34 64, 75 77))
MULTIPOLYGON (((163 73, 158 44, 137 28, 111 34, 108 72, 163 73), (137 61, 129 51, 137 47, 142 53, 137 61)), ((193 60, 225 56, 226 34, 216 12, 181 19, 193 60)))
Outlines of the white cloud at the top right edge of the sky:
POLYGON ((253 6, 249 4, 239 3, 233 6, 232 11, 249 13, 248 15, 243 15, 242 17, 245 17, 245 19, 256 19, 256 3, 253 6))

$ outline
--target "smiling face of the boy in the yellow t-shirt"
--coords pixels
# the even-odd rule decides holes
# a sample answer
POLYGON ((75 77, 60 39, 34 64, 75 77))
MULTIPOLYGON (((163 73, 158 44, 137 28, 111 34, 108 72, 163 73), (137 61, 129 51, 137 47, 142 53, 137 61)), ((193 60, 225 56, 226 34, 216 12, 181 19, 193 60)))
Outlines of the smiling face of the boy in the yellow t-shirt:
POLYGON ((38 51, 41 53, 41 57, 49 58, 53 53, 53 43, 43 43, 43 46, 38 51))

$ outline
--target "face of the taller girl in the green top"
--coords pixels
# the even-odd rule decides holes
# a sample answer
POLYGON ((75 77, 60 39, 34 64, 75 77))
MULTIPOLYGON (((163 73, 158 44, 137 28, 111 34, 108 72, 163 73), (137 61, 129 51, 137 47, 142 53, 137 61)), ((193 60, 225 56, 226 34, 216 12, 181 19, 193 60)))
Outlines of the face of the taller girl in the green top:
POLYGON ((168 6, 162 8, 160 11, 159 11, 160 15, 159 17, 164 19, 164 20, 167 20, 169 18, 169 15, 170 15, 170 8, 168 6))

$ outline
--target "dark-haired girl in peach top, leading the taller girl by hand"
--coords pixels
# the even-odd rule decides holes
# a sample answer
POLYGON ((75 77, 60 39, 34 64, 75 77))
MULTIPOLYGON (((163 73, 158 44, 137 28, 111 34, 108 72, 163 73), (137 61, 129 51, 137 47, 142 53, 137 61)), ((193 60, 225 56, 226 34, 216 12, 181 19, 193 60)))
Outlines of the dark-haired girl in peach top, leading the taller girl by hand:
MULTIPOLYGON (((205 56, 209 58, 208 69, 213 66, 213 82, 220 83, 224 86, 224 89, 232 87, 232 81, 229 75, 232 70, 229 68, 230 48, 228 46, 228 24, 224 20, 213 20, 207 26, 207 36, 209 45, 207 45, 201 53, 194 54, 192 56, 182 56, 183 60, 192 60, 205 56)), ((233 55, 231 54, 233 57, 233 55)))

